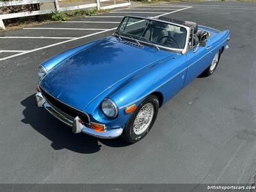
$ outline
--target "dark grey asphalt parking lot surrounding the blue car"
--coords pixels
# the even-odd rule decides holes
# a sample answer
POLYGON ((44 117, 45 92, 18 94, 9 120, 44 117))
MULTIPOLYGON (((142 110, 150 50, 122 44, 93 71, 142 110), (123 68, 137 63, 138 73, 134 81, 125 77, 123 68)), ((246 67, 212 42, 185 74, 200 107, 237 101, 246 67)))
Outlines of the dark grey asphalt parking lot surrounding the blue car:
POLYGON ((145 5, 1 32, 0 183, 253 183, 256 164, 256 3, 145 5), (111 35, 124 15, 230 30, 213 76, 159 110, 138 143, 72 134, 35 106, 36 67, 111 35))

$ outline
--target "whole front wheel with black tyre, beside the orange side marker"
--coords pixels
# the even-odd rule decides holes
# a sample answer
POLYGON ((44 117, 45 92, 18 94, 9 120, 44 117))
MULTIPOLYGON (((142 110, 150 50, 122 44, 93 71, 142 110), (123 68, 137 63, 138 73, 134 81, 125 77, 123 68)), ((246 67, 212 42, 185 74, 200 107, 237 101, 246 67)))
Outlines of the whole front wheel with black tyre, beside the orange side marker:
POLYGON ((125 124, 122 138, 129 143, 136 143, 144 138, 154 125, 158 108, 159 101, 155 95, 146 97, 125 124))

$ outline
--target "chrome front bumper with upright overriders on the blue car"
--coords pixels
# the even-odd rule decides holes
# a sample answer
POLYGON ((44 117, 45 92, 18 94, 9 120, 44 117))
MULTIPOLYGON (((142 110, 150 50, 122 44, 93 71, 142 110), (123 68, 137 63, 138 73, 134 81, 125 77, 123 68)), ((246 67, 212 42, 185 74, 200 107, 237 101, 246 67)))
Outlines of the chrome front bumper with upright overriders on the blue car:
POLYGON ((118 129, 109 129, 109 130, 106 129, 102 132, 95 131, 91 127, 86 127, 86 125, 82 124, 79 116, 76 116, 76 118, 74 118, 74 120, 70 120, 65 115, 61 114, 56 109, 52 108, 51 104, 49 104, 49 102, 47 102, 44 99, 44 96, 42 95, 42 93, 37 92, 35 97, 36 97, 36 104, 38 107, 44 107, 47 111, 49 111, 49 113, 51 113, 53 116, 58 118, 61 122, 72 127, 72 132, 74 132, 74 133, 83 132, 85 134, 89 134, 89 135, 95 136, 97 138, 112 139, 112 138, 117 138, 123 132, 122 127, 118 128, 118 129))

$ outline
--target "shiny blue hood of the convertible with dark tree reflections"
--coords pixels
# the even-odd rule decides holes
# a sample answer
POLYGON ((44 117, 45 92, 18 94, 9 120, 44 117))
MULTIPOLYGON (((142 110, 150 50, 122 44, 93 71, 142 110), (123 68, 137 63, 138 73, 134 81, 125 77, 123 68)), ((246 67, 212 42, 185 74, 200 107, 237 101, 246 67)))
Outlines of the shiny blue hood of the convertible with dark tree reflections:
POLYGON ((93 99, 164 58, 156 50, 104 38, 57 65, 40 86, 57 99, 84 110, 93 99))

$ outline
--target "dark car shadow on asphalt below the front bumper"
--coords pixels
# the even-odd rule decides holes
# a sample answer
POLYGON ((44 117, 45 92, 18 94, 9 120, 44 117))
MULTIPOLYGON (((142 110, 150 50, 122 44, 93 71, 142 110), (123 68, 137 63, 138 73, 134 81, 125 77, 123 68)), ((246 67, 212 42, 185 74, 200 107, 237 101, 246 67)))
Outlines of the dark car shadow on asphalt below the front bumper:
POLYGON ((35 95, 30 95, 20 103, 26 107, 22 111, 24 119, 21 122, 31 125, 33 129, 51 140, 51 146, 54 150, 67 148, 78 153, 92 154, 100 150, 99 141, 109 147, 125 147, 129 145, 121 138, 101 140, 86 134, 73 134, 70 127, 57 120, 44 108, 36 107, 35 95))

